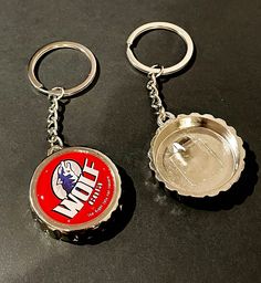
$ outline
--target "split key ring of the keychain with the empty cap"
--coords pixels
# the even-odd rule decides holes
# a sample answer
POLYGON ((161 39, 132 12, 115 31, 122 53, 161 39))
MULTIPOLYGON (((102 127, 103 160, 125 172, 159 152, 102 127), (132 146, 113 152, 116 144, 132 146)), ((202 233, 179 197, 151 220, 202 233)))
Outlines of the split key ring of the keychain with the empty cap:
POLYGON ((149 30, 168 30, 168 31, 173 31, 175 33, 177 33, 179 36, 181 36, 181 39, 185 41, 186 45, 187 45, 187 52, 184 56, 184 59, 177 63, 176 65, 169 66, 169 67, 165 67, 161 72, 163 75, 169 75, 169 74, 174 74, 176 72, 178 72, 179 70, 181 70, 182 67, 185 67, 189 60, 192 56, 194 53, 194 42, 190 38, 190 35, 181 28, 179 28, 176 24, 169 23, 169 22, 150 22, 150 23, 146 23, 143 24, 142 27, 137 28, 135 31, 133 31, 130 33, 130 35, 127 39, 127 50, 126 50, 126 54, 128 57, 128 61, 130 62, 130 64, 133 66, 135 66, 136 69, 138 69, 139 71, 144 72, 144 73, 159 73, 160 69, 155 69, 155 67, 150 67, 150 66, 146 66, 143 63, 140 63, 134 55, 133 50, 132 50, 132 45, 133 42, 135 41, 136 38, 138 38, 140 34, 143 34, 146 31, 149 30))

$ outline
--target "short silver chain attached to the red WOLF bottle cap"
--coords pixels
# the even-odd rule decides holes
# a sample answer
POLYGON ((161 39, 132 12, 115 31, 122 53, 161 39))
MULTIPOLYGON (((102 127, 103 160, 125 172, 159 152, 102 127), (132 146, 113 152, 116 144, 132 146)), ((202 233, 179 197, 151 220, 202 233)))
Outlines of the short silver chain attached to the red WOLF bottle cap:
POLYGON ((48 95, 48 99, 51 103, 48 115, 48 142, 50 144, 48 155, 51 155, 63 148, 63 142, 58 133, 59 101, 63 97, 63 95, 64 90, 62 87, 52 88, 52 92, 50 92, 48 95))

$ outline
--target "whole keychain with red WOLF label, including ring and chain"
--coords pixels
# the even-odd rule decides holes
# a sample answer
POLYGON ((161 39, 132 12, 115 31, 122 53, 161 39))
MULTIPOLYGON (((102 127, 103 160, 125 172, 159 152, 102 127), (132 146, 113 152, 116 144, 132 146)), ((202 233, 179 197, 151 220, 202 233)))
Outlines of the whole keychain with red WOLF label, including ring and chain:
POLYGON ((29 63, 32 85, 48 95, 48 157, 38 166, 30 184, 30 206, 41 228, 50 235, 70 242, 82 242, 96 231, 118 208, 121 177, 113 161, 98 150, 85 147, 63 148, 58 133, 59 102, 86 88, 95 77, 93 53, 75 42, 54 42, 40 49, 29 63), (35 65, 48 52, 58 49, 81 51, 91 62, 91 72, 80 85, 70 90, 45 90, 35 75, 35 65))

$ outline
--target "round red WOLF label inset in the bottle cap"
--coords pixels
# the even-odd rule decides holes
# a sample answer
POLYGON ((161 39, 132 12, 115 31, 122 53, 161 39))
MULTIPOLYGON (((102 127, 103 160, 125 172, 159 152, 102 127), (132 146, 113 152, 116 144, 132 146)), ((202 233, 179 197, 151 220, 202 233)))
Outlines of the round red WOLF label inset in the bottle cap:
POLYGON ((109 205, 115 184, 104 160, 84 151, 54 156, 36 180, 36 199, 53 220, 82 224, 98 217, 109 205))

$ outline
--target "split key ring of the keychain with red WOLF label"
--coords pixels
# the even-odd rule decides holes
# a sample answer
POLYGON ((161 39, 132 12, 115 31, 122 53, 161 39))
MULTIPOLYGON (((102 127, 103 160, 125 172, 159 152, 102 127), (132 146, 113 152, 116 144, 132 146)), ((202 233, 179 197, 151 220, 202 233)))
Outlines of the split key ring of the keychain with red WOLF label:
POLYGON ((31 60, 29 62, 28 77, 29 77, 31 84, 39 92, 44 93, 44 94, 52 93, 52 91, 45 90, 43 84, 36 78, 35 66, 36 66, 39 60, 44 54, 46 54, 50 51, 58 50, 58 49, 73 49, 73 50, 81 51, 83 54, 85 54, 87 56, 87 59, 91 62, 91 71, 90 71, 88 76, 81 84, 79 84, 72 88, 64 90, 64 97, 69 97, 76 93, 80 93, 81 91, 86 88, 93 82, 95 74, 96 74, 96 60, 95 60, 94 54, 87 48, 85 48, 84 45, 82 45, 80 43, 70 42, 70 41, 59 41, 59 42, 53 42, 53 43, 50 43, 50 44, 41 48, 40 50, 36 51, 36 53, 31 57, 31 60))

